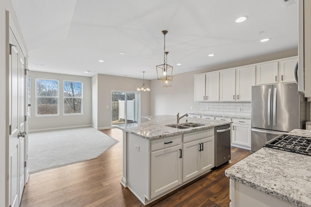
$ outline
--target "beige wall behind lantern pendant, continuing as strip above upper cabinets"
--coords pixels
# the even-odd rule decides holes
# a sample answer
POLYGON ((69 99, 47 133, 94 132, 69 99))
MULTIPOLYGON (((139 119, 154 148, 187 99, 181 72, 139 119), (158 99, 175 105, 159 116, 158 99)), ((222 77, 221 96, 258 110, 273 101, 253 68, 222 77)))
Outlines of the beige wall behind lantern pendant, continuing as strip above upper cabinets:
MULTIPOLYGON (((297 48, 277 52, 268 55, 262 55, 255 58, 246 60, 236 61, 233 63, 224 63, 217 66, 212 66, 206 69, 195 70, 191 72, 181 73, 173 75, 173 84, 170 88, 161 86, 158 80, 152 80, 150 82, 151 97, 150 112, 152 115, 169 114, 176 115, 198 112, 198 102, 194 102, 194 74, 210 72, 220 69, 228 69, 233 67, 239 67, 254 63, 265 62, 269 60, 275 60, 279 58, 296 56, 298 53, 297 48), (192 106, 192 109, 191 109, 192 106)), ((242 58, 241 58, 242 59, 242 58)), ((174 67, 173 70, 178 70, 178 66, 174 67)), ((174 73, 173 73, 174 74, 174 73)))

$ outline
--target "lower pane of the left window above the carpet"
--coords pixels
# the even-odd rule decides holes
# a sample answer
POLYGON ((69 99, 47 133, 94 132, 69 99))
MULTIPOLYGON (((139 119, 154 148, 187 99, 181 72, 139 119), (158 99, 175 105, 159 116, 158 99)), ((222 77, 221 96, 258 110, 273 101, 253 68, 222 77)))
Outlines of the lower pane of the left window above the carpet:
POLYGON ((57 114, 57 98, 37 98, 37 115, 57 114))

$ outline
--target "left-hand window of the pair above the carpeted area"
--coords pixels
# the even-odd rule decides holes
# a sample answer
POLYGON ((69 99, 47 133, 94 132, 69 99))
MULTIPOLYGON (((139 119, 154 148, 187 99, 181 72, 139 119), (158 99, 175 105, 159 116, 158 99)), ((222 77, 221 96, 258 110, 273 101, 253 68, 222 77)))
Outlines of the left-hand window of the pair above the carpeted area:
POLYGON ((58 115, 58 80, 36 79, 36 115, 58 115))

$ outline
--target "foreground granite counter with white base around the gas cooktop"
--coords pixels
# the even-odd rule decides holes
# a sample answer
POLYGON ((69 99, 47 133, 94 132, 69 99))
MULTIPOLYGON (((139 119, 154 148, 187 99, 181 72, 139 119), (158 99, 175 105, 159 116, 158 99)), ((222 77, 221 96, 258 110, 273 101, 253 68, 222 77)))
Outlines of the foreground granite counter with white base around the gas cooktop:
MULTIPOLYGON (((296 136, 311 137, 294 129, 296 136)), ((230 207, 310 207, 311 156, 263 147, 225 170, 230 207)))

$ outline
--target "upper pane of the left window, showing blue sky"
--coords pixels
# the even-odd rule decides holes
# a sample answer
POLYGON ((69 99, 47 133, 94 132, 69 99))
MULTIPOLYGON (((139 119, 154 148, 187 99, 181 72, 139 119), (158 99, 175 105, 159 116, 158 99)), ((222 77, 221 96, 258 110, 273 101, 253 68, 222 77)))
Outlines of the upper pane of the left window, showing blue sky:
POLYGON ((55 80, 36 80, 37 96, 58 97, 58 81, 55 80))

